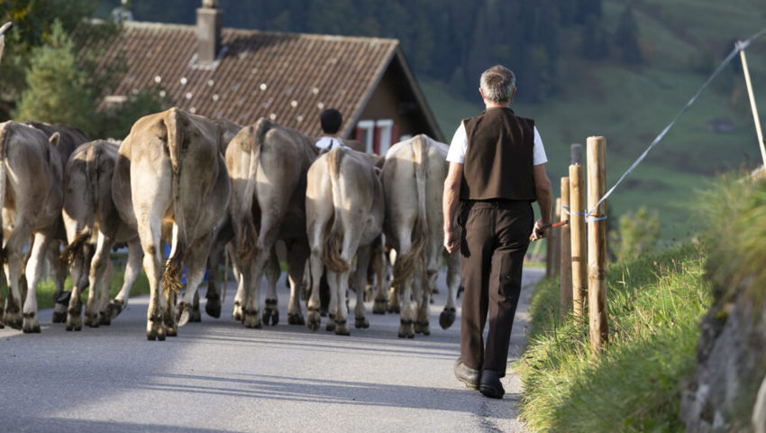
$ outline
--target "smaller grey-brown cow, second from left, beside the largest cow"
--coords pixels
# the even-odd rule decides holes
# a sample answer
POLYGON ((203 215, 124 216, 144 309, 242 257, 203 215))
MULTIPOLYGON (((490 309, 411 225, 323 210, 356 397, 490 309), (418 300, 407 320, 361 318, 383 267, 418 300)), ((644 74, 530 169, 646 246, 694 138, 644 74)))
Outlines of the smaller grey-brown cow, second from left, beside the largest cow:
POLYGON ((64 167, 64 226, 69 244, 62 253, 72 269, 67 330, 82 328, 80 292, 90 287, 86 325, 109 325, 127 305, 130 290, 141 272, 138 233, 123 222, 112 199, 112 174, 119 143, 97 140, 79 146, 64 167), (109 252, 115 243, 128 244, 123 288, 109 303, 109 252), (96 296, 101 299, 96 306, 96 296), (100 313, 100 317, 99 317, 100 313))

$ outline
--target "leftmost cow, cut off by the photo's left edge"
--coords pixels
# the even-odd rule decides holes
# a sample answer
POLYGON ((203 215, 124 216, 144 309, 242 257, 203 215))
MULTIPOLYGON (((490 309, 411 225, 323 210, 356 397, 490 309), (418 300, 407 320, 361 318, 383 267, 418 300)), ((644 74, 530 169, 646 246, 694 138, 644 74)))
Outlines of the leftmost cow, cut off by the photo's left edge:
POLYGON ((58 144, 59 134, 48 137, 24 124, 0 124, 0 209, 2 243, 0 261, 10 290, 5 303, 3 323, 23 332, 40 332, 37 318, 37 282, 42 271, 43 254, 54 235, 61 216, 63 191, 58 144), (51 145, 52 144, 52 145, 51 145), (30 259, 25 275, 28 290, 23 301, 19 279, 22 277, 23 247, 33 235, 30 259))

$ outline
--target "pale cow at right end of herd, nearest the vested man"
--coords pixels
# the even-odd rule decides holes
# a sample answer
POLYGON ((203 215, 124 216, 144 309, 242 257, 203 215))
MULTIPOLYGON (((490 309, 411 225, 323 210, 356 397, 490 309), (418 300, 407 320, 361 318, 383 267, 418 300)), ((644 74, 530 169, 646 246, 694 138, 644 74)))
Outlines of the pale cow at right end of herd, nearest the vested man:
MULTIPOLYGON (((449 165, 448 146, 420 134, 397 143, 386 153, 380 179, 386 196, 386 240, 397 252, 391 289, 399 290, 403 305, 398 335, 412 338, 415 332, 429 335, 428 304, 442 266, 442 190, 449 165), (417 317, 413 311, 415 300, 417 317)), ((455 296, 460 286, 459 256, 447 256, 447 305, 440 325, 446 329, 455 319, 455 296)), ((376 304, 386 300, 376 290, 376 304)), ((396 302, 397 297, 390 297, 396 302)), ((396 309, 396 307, 393 307, 396 309)))

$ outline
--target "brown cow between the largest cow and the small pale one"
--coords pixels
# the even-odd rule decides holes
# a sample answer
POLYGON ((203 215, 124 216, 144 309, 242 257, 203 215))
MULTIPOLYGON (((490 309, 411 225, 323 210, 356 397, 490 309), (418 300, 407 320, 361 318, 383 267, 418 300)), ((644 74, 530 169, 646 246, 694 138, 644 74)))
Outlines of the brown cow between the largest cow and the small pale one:
MULTIPOLYGON (((285 239, 290 250, 287 323, 305 324, 297 290, 308 257, 305 173, 316 154, 305 135, 263 118, 243 128, 226 150, 233 188, 230 212, 243 277, 233 317, 245 327, 261 326, 260 280, 278 239, 285 239)), ((270 284, 263 321, 278 322, 277 293, 270 284)))

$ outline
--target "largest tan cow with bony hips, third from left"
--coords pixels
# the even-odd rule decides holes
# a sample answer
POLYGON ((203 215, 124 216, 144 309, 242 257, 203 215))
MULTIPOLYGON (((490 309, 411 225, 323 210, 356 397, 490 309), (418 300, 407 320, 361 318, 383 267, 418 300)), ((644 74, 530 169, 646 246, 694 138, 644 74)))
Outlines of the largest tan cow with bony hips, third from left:
POLYGON ((220 137, 220 128, 210 119, 173 107, 141 117, 120 145, 112 196, 120 217, 138 230, 141 239, 150 284, 146 326, 150 340, 176 336, 178 325, 191 316, 214 228, 225 216, 231 193, 220 137), (160 273, 163 239, 172 247, 160 273), (187 290, 177 322, 173 300, 184 263, 187 290))

